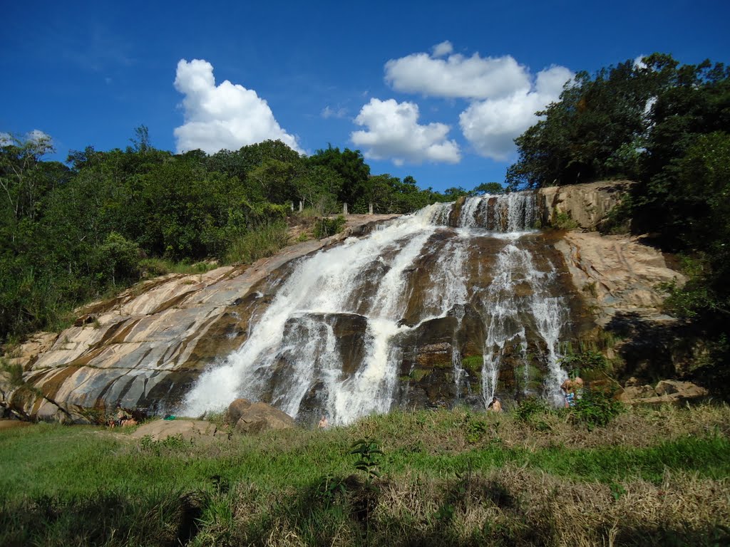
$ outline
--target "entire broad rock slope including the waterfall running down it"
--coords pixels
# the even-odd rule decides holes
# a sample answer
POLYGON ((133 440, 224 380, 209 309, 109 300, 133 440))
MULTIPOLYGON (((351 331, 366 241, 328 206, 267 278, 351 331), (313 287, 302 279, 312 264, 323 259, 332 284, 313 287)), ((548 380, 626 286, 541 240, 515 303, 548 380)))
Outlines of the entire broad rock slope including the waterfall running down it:
POLYGON ((0 405, 79 422, 118 405, 199 415, 210 400, 245 396, 300 422, 327 414, 337 423, 396 406, 555 396, 562 343, 626 318, 675 321, 656 284, 683 277, 640 239, 595 231, 629 185, 433 206, 425 231, 395 225, 373 236, 362 247, 373 256, 345 240, 393 216, 353 215, 345 233, 248 267, 139 284, 8 356, 22 379, 0 381, 0 405), (578 229, 529 230, 559 214, 578 229))

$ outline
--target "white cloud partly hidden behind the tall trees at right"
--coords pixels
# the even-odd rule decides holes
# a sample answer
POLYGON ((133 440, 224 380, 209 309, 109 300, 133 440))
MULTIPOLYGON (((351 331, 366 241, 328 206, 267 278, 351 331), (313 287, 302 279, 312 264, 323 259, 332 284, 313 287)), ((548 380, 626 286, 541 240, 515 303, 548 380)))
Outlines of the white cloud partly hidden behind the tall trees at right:
POLYGON ((507 160, 515 151, 514 139, 537 123, 535 112, 557 101, 563 85, 572 77, 564 66, 551 66, 537 73, 532 88, 477 101, 461 112, 461 131, 480 155, 507 160))

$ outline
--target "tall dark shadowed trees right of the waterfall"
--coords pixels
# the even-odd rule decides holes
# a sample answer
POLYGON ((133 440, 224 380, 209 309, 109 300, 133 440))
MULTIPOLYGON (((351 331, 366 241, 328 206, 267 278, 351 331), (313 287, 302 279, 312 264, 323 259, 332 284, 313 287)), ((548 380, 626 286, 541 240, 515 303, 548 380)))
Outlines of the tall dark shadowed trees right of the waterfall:
POLYGON ((700 376, 727 385, 730 67, 680 65, 655 53, 639 64, 577 74, 539 114, 515 140, 519 160, 507 172, 509 186, 637 181, 612 220, 680 255, 689 282, 666 287, 667 306, 702 333, 700 376))

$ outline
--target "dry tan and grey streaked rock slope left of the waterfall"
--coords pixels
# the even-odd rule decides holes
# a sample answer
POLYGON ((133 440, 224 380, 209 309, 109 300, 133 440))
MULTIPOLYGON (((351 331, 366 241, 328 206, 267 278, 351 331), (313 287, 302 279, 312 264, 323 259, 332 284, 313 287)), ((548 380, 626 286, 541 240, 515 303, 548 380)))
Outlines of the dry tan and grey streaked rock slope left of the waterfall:
POLYGON ((80 310, 61 333, 37 333, 5 356, 23 384, 0 374, 0 411, 23 419, 94 422, 117 405, 161 414, 215 357, 236 349, 237 306, 252 287, 292 260, 361 236, 397 215, 347 217, 335 236, 304 241, 252 265, 142 282, 80 310))

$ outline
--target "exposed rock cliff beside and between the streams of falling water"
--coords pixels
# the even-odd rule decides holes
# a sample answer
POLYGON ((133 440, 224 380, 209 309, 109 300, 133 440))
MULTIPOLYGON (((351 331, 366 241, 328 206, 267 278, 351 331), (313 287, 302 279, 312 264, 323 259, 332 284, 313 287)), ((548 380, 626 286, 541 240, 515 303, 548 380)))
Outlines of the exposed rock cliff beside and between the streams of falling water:
MULTIPOLYGON (((672 280, 682 283, 684 278, 669 268, 661 252, 642 244, 639 238, 601 236, 594 231, 630 184, 596 182, 539 190, 542 225, 550 225, 556 214, 565 214, 578 229, 542 234, 534 244, 552 249, 540 260, 559 266, 556 286, 563 287, 561 291, 568 297, 572 321, 585 324, 577 330, 589 330, 591 325, 621 330, 631 325, 633 330, 629 329, 621 344, 626 350, 624 358, 629 361, 627 372, 637 374, 645 357, 635 357, 636 352, 632 357, 628 350, 631 344, 645 346, 637 343, 645 330, 636 325, 675 324, 675 319, 661 311, 663 295, 656 284, 672 280)), ((38 333, 6 356, 10 364, 22 369, 22 384, 17 378, 0 379, 0 407, 29 419, 70 422, 93 421, 118 404, 161 414, 180 402, 204 368, 241 346, 248 335, 249 321, 266 309, 272 287, 291 271, 297 259, 366 233, 372 222, 392 217, 351 215, 345 232, 333 238, 293 245, 247 267, 226 266, 206 274, 154 279, 113 300, 87 306, 74 326, 61 333, 38 333)), ((482 274, 488 268, 482 266, 485 260, 492 260, 495 252, 488 247, 477 249, 465 271, 487 276, 481 281, 488 284, 489 274, 482 274)), ((423 306, 421 300, 427 296, 423 291, 433 268, 429 260, 437 257, 415 260, 407 271, 413 290, 411 307, 404 311, 404 325, 418 323, 414 310, 423 306)), ((376 260, 372 267, 383 268, 383 264, 376 260)), ((367 284, 362 290, 368 290, 367 284)), ((526 284, 515 287, 517 297, 529 294, 526 284)), ((339 352, 345 360, 342 374, 353 374, 348 363, 357 362, 364 351, 364 317, 358 312, 311 319, 328 325, 335 333, 337 344, 343 346, 339 352)), ((401 400, 429 406, 458 397, 480 399, 484 350, 476 341, 482 341, 485 333, 483 322, 477 319, 469 305, 456 306, 445 317, 420 323, 404 338, 408 351, 399 371, 397 396, 401 400), (461 394, 453 378, 455 349, 466 375, 461 394)), ((304 326, 292 319, 285 328, 301 330, 304 326)), ((539 381, 539 374, 531 371, 543 365, 530 356, 542 349, 515 344, 505 352, 512 357, 505 360, 499 372, 499 384, 502 389, 517 389, 518 384, 521 390, 537 389, 523 376, 539 381), (523 362, 528 357, 528 362, 523 362)), ((622 351, 621 345, 616 351, 622 351)), ((286 371, 288 363, 283 359, 277 368, 286 371)), ((307 397, 303 404, 307 406, 307 400, 311 400, 314 413, 316 389, 312 388, 307 397)))

